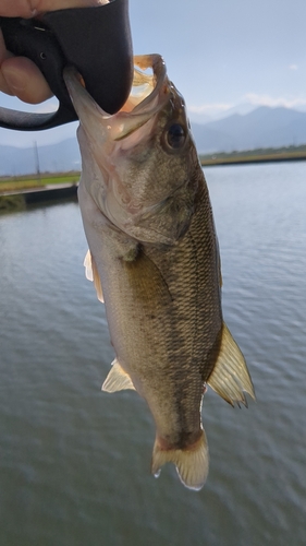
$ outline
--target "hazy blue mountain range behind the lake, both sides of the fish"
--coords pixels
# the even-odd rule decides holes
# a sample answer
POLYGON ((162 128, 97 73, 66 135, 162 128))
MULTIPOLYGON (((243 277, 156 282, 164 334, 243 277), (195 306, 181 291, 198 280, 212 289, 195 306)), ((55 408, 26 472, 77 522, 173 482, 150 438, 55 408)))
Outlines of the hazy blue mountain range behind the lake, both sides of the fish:
MULTIPOLYGON (((245 115, 231 116, 207 123, 192 122, 198 153, 233 152, 259 147, 306 144, 306 112, 290 108, 261 106, 245 115)), ((76 139, 38 149, 41 173, 81 168, 76 139)), ((37 170, 35 146, 20 149, 0 145, 0 176, 16 176, 37 170)))

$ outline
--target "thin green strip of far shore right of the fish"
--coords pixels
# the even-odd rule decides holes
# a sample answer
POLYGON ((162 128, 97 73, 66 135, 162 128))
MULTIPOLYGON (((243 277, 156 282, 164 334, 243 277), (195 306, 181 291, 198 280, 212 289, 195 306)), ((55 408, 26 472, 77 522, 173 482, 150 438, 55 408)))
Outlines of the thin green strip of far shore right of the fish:
POLYGON ((216 153, 199 156, 203 166, 244 163, 305 161, 306 145, 247 150, 245 152, 216 153))

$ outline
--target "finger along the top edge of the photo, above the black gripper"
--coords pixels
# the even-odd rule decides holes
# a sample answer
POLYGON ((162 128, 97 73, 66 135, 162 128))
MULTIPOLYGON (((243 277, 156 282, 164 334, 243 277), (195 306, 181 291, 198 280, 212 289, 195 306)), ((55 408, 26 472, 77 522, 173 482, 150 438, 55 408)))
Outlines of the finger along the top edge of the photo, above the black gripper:
POLYGON ((0 0, 0 15, 4 17, 33 17, 45 11, 100 5, 109 0, 0 0))

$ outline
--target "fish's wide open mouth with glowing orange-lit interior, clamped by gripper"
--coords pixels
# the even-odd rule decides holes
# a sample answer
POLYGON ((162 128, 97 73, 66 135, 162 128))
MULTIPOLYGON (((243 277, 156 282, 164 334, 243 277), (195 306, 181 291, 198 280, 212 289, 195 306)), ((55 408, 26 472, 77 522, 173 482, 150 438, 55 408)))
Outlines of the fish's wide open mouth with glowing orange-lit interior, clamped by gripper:
POLYGON ((120 141, 130 135, 158 114, 170 95, 170 82, 160 55, 134 57, 134 78, 130 96, 114 115, 106 112, 83 85, 82 76, 73 67, 64 70, 64 81, 79 122, 87 133, 99 123, 103 140, 120 141), (151 69, 152 73, 145 71, 151 69))

